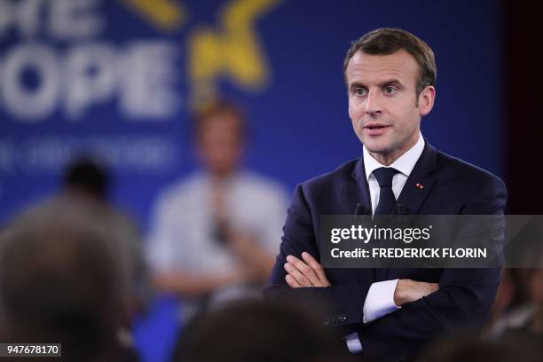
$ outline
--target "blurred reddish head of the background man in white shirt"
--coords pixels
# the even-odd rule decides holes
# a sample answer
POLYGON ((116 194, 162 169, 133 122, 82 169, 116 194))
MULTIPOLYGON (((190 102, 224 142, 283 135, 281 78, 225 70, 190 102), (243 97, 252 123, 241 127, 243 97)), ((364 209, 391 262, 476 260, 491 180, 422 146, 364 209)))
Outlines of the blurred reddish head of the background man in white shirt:
POLYGON ((241 161, 246 122, 238 106, 218 102, 194 117, 197 153, 205 169, 216 177, 232 173, 241 161))

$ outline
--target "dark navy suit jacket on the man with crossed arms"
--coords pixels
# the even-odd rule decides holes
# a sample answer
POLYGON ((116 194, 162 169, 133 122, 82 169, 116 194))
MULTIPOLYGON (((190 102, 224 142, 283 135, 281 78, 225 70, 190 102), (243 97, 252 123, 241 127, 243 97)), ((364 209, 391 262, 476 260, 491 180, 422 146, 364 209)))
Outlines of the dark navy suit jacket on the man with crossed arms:
MULTIPOLYGON (((400 193, 406 215, 499 215, 507 191, 499 177, 437 151, 428 142, 400 193), (424 185, 423 188, 415 185, 424 185)), ((383 360, 413 358, 425 342, 456 323, 483 322, 500 282, 498 269, 325 269, 332 287, 288 287, 287 256, 309 252, 319 260, 320 216, 371 212, 363 158, 298 185, 276 264, 264 297, 286 303, 326 303, 323 323, 357 331, 366 356, 383 360), (363 306, 375 281, 413 279, 438 282, 439 290, 364 325, 363 306)))

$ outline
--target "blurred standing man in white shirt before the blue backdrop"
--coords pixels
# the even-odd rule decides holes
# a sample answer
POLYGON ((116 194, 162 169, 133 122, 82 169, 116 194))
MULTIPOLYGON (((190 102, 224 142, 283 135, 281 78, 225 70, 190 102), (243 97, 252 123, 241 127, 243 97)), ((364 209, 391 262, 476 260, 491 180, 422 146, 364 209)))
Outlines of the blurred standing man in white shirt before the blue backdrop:
POLYGON ((237 106, 210 106, 193 127, 201 170, 161 194, 148 240, 155 286, 185 297, 185 321, 261 297, 287 205, 279 185, 241 169, 247 125, 237 106))

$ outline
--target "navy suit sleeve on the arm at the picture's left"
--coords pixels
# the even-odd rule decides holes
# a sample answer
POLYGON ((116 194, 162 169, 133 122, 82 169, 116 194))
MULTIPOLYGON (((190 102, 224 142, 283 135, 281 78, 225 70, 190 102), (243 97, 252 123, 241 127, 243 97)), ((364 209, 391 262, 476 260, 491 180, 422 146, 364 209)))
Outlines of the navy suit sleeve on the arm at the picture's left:
MULTIPOLYGON (((298 185, 288 209, 279 255, 271 271, 270 284, 264 289, 264 298, 271 302, 321 307, 322 311, 326 311, 321 317, 327 326, 362 323, 363 305, 370 284, 300 288, 287 285, 287 272, 283 267, 287 263, 287 256, 301 258, 303 251, 319 260, 311 210, 304 196, 303 185, 298 185)), ((330 281, 334 284, 333 280, 330 281)))

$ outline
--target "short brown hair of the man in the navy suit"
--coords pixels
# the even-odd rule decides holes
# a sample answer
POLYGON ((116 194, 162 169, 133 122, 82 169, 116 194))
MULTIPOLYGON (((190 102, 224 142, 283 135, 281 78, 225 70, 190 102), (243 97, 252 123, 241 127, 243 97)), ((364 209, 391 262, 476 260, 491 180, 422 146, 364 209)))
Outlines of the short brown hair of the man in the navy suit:
MULTIPOLYGON (((417 36, 397 28, 375 29, 352 42, 345 60, 343 60, 343 75, 347 71, 350 59, 358 51, 371 55, 390 55, 400 50, 405 50, 411 54, 419 65, 420 75, 416 85, 417 96, 427 86, 435 86, 437 67, 434 51, 417 36)), ((347 83, 346 79, 345 83, 347 83)))

